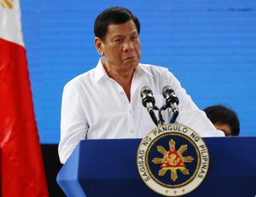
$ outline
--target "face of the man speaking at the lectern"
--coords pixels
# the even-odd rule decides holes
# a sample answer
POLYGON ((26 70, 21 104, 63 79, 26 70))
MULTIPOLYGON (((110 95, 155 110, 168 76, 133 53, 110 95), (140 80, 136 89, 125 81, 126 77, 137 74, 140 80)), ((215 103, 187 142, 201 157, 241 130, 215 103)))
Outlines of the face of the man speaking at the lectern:
POLYGON ((141 58, 141 44, 137 27, 132 20, 109 25, 105 39, 100 42, 107 67, 123 71, 137 67, 141 58))

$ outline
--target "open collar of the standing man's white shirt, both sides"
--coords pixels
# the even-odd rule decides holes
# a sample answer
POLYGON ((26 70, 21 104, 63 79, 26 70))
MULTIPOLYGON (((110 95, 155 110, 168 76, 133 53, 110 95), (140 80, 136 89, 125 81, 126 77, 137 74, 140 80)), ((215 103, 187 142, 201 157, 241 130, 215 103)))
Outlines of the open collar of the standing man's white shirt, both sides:
MULTIPOLYGON (((95 81, 99 81, 104 76, 108 77, 108 73, 105 71, 105 68, 103 67, 105 59, 102 57, 97 63, 96 66, 96 72, 95 72, 95 81)), ((147 67, 144 64, 139 64, 138 67, 135 70, 135 74, 137 75, 149 75, 151 77, 154 77, 149 67, 147 67)))

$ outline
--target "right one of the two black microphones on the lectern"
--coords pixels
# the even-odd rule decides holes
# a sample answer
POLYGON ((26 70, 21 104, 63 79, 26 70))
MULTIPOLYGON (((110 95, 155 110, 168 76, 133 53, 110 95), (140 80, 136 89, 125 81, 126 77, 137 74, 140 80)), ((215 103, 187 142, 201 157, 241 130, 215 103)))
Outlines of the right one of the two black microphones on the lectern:
POLYGON ((174 90, 172 90, 171 86, 166 85, 163 88, 163 96, 166 99, 166 107, 170 107, 172 109, 172 119, 171 119, 171 123, 175 122, 175 120, 177 119, 177 115, 178 115, 178 98, 175 95, 174 90))

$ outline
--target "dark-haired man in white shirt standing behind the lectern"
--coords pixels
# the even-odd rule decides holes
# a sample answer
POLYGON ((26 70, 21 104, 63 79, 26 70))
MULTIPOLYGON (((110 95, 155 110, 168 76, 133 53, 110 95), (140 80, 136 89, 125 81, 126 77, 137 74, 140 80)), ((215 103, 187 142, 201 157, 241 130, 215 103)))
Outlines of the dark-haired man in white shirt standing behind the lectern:
MULTIPOLYGON (((96 68, 73 78, 63 90, 59 154, 65 163, 83 139, 142 138, 155 128, 142 105, 143 86, 153 90, 156 105, 165 104, 162 89, 170 85, 179 99, 177 122, 201 136, 224 136, 195 106, 171 72, 140 64, 140 23, 130 10, 106 9, 95 21, 94 40, 102 55, 96 68)), ((163 118, 168 123, 168 111, 163 118)))

